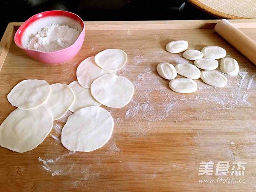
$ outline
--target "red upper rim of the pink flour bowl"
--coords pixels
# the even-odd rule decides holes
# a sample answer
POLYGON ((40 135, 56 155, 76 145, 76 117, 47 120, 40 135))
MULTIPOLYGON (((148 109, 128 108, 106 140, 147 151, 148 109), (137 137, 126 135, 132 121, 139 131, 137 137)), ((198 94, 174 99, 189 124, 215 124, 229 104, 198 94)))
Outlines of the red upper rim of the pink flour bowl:
MULTIPOLYGON (((60 16, 61 16, 61 15, 60 15, 60 16)), ((68 17, 68 16, 66 16, 66 17, 68 17)), ((27 28, 27 27, 26 27, 26 28, 27 28)), ((26 29, 26 28, 24 28, 24 29, 26 29)), ((75 13, 67 12, 67 11, 62 11, 62 10, 51 10, 51 11, 46 11, 46 12, 40 12, 40 13, 38 13, 38 14, 35 14, 35 15, 29 17, 29 19, 27 19, 27 20, 19 27, 19 29, 17 29, 17 31, 15 32, 14 42, 15 42, 15 44, 16 44, 20 49, 25 49, 25 50, 28 50, 28 51, 39 52, 39 53, 45 53, 45 54, 52 54, 52 53, 58 53, 58 52, 65 51, 65 50, 67 50, 67 49, 71 49, 71 48, 73 47, 73 45, 76 44, 77 41, 79 41, 79 38, 80 38, 80 36, 83 34, 84 31, 85 31, 84 21, 82 20, 81 17, 79 17, 79 16, 76 15, 75 13), (40 14, 45 14, 45 13, 48 13, 48 12, 59 12, 59 13, 61 13, 61 12, 66 12, 66 13, 70 13, 70 14, 72 14, 72 15, 75 15, 76 17, 78 17, 78 18, 81 20, 81 23, 83 23, 83 24, 82 24, 82 31, 80 32, 80 34, 79 34, 79 36, 77 37, 76 41, 75 41, 72 45, 70 45, 69 47, 66 47, 66 48, 61 49, 61 50, 58 50, 58 51, 52 51, 52 52, 44 52, 44 51, 39 51, 39 50, 35 50, 35 49, 28 49, 28 48, 24 48, 24 47, 21 47, 20 45, 18 45, 17 42, 16 42, 17 35, 19 35, 18 33, 19 33, 21 30, 23 30, 24 26, 25 26, 27 23, 29 23, 32 19, 34 19, 35 17, 37 17, 38 15, 40 15, 40 14)))

